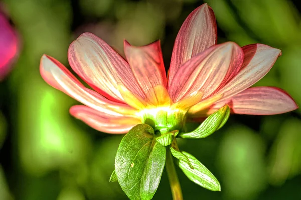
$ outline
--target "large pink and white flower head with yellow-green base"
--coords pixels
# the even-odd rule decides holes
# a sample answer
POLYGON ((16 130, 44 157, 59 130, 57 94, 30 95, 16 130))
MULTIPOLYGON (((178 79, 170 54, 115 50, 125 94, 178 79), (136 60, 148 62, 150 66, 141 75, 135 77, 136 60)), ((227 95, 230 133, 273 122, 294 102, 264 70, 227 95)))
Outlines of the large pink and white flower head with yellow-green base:
POLYGON ((216 41, 214 13, 203 4, 176 37, 168 79, 160 41, 142 47, 125 41, 125 60, 91 33, 72 42, 68 59, 93 90, 50 56, 42 56, 40 72, 48 84, 84 104, 71 107, 71 115, 107 133, 126 133, 139 123, 160 132, 180 130, 185 121, 206 117, 225 104, 232 113, 251 115, 298 108, 279 88, 250 88, 271 69, 279 49, 216 41))

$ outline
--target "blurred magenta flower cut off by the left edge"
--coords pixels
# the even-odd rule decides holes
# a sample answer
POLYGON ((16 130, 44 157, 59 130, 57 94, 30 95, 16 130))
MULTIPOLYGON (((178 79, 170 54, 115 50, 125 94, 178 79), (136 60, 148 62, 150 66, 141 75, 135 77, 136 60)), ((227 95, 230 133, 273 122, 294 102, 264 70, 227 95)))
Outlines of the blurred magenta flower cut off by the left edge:
POLYGON ((0 13, 0 81, 11 71, 17 53, 17 35, 7 18, 0 13))

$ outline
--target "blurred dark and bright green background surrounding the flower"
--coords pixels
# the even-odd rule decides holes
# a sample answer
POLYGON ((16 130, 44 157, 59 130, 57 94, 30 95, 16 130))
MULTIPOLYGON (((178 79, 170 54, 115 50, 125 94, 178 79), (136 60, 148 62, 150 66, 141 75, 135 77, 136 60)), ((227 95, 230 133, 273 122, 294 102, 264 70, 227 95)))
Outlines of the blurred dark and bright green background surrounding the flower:
MULTIPOLYGON (((256 85, 277 86, 301 105, 301 7, 288 0, 208 0, 219 43, 263 43, 282 50, 256 85)), ((39 74, 46 53, 68 66, 69 44, 92 32, 122 52, 161 40, 168 67, 176 34, 195 0, 6 0, 22 50, 0 83, 0 199, 127 199, 110 183, 122 135, 97 132, 72 118, 78 104, 39 74)), ((179 140, 221 183, 205 190, 178 170, 184 199, 301 199, 301 112, 233 115, 222 130, 201 140, 179 140)), ((171 199, 165 172, 154 199, 171 199)))

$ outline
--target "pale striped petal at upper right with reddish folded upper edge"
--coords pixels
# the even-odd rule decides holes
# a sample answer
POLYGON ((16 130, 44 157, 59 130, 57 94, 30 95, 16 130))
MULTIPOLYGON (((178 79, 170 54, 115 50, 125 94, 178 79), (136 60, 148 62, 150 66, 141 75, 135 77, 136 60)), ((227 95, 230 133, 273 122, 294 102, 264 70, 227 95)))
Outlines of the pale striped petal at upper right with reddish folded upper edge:
POLYGON ((240 71, 217 93, 223 94, 223 99, 229 98, 259 81, 281 55, 279 49, 262 44, 247 45, 242 49, 244 61, 240 71))

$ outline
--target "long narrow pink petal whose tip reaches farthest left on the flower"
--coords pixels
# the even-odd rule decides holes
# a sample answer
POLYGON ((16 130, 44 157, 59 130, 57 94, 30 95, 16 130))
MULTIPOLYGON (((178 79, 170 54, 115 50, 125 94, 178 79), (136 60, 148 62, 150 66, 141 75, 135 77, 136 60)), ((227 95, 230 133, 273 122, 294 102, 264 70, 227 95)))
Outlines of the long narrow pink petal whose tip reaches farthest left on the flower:
POLYGON ((126 104, 110 101, 97 92, 84 87, 63 64, 50 56, 42 56, 40 73, 52 87, 100 112, 123 116, 133 114, 136 111, 126 104))

